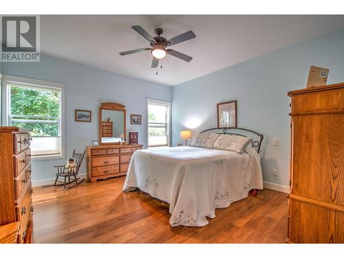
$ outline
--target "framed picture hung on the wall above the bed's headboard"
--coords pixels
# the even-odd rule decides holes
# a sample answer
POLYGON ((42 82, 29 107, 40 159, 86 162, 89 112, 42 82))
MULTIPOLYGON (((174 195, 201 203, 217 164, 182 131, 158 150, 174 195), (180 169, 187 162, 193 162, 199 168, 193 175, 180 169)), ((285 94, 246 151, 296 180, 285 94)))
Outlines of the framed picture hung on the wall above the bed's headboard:
POLYGON ((237 127, 237 100, 217 103, 217 127, 237 127))

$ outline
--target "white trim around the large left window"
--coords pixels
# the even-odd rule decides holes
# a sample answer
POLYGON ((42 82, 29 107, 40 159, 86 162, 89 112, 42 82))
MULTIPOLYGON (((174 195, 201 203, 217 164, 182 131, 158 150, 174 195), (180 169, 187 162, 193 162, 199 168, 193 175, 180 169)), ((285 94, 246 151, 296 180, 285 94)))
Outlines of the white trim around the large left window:
POLYGON ((10 90, 8 83, 21 83, 30 85, 40 85, 61 89, 61 154, 60 155, 41 155, 32 157, 32 160, 55 160, 65 158, 65 84, 54 83, 47 80, 37 80, 32 78, 25 78, 19 76, 12 76, 3 74, 1 87, 1 125, 8 125, 8 118, 10 116, 10 90))

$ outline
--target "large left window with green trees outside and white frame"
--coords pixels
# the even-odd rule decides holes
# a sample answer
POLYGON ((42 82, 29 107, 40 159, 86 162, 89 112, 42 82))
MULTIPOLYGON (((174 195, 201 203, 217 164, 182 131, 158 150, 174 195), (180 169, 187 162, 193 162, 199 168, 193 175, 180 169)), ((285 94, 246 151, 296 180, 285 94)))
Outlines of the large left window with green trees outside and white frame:
POLYGON ((63 85, 43 81, 34 84, 32 79, 12 76, 4 78, 7 125, 31 130, 33 158, 64 158, 63 85))

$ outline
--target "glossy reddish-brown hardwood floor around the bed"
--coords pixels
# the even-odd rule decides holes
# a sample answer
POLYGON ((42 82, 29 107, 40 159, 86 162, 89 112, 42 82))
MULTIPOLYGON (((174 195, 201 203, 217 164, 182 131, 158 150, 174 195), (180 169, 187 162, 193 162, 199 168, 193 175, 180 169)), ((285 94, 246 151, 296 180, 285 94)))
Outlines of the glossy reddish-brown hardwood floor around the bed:
POLYGON ((169 206, 142 192, 123 193, 125 178, 69 190, 36 187, 34 243, 285 243, 286 193, 249 195, 202 228, 169 224, 169 206))

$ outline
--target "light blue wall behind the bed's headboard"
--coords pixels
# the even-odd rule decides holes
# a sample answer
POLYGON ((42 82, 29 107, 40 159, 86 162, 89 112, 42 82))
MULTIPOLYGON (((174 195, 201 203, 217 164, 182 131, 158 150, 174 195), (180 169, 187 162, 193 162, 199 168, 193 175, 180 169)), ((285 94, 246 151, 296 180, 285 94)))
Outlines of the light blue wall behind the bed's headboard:
POLYGON ((237 100, 238 126, 264 134, 264 181, 288 185, 290 99, 287 92, 305 87, 311 65, 329 67, 328 83, 344 81, 344 30, 239 63, 173 87, 173 144, 180 130, 216 127, 216 103, 237 100), (195 122, 194 122, 195 123, 195 122), (191 123, 192 124, 192 123, 191 123), (280 140, 272 145, 272 138, 280 140), (271 169, 279 169, 277 177, 271 169))

